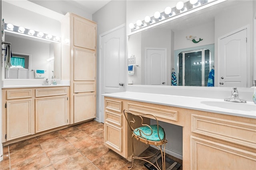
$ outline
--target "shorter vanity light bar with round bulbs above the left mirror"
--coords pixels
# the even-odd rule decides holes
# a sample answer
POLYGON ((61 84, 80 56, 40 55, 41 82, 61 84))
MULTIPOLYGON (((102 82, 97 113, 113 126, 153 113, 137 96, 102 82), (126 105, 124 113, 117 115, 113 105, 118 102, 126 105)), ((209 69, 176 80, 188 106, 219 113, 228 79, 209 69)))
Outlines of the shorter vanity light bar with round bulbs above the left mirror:
POLYGON ((33 29, 18 27, 18 26, 12 25, 11 23, 4 23, 4 29, 6 32, 11 32, 11 33, 20 34, 20 35, 26 35, 26 36, 34 37, 37 39, 44 39, 46 41, 60 43, 60 37, 52 36, 51 34, 34 31, 33 29))

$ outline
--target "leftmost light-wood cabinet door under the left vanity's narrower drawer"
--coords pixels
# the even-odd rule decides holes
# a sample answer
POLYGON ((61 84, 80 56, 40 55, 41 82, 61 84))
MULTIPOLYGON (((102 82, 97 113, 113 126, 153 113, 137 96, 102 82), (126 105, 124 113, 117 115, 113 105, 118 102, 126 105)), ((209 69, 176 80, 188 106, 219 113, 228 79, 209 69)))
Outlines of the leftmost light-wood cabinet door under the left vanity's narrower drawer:
POLYGON ((7 101, 7 141, 32 135, 32 99, 7 101))

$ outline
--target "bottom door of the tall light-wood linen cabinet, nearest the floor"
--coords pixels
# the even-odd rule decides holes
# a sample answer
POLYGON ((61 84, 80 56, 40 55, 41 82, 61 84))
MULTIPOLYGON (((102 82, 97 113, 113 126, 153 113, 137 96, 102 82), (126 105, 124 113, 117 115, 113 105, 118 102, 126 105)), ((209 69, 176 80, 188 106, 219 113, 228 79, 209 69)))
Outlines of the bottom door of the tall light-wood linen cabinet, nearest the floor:
POLYGON ((95 118, 95 94, 74 95, 74 123, 95 118))

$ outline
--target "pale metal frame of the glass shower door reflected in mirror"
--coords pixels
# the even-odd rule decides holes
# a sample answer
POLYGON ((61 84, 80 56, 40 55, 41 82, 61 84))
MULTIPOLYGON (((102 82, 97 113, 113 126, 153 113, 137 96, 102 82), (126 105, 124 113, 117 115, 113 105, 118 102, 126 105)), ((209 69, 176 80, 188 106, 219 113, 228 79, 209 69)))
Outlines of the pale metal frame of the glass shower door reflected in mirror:
MULTIPOLYGON (((189 50, 189 51, 182 51, 180 53, 182 53, 182 86, 185 86, 185 54, 186 53, 193 53, 193 52, 198 52, 198 51, 201 51, 202 53, 202 63, 205 62, 205 51, 206 50, 209 50, 209 49, 196 49, 196 50, 189 50)), ((180 54, 179 53, 179 54, 180 54)), ((179 77, 179 54, 178 54, 178 59, 177 59, 177 70, 178 70, 178 77, 179 77)), ((204 63, 205 64, 205 63, 204 63)), ((205 75, 205 68, 204 68, 204 64, 202 64, 202 73, 201 73, 201 76, 202 76, 202 84, 201 86, 204 87, 205 85, 205 81, 204 81, 204 75, 205 75)), ((209 72, 210 72, 210 69, 212 68, 212 56, 211 56, 211 51, 209 50, 209 72)), ((177 79, 177 84, 179 84, 179 78, 177 79)))

